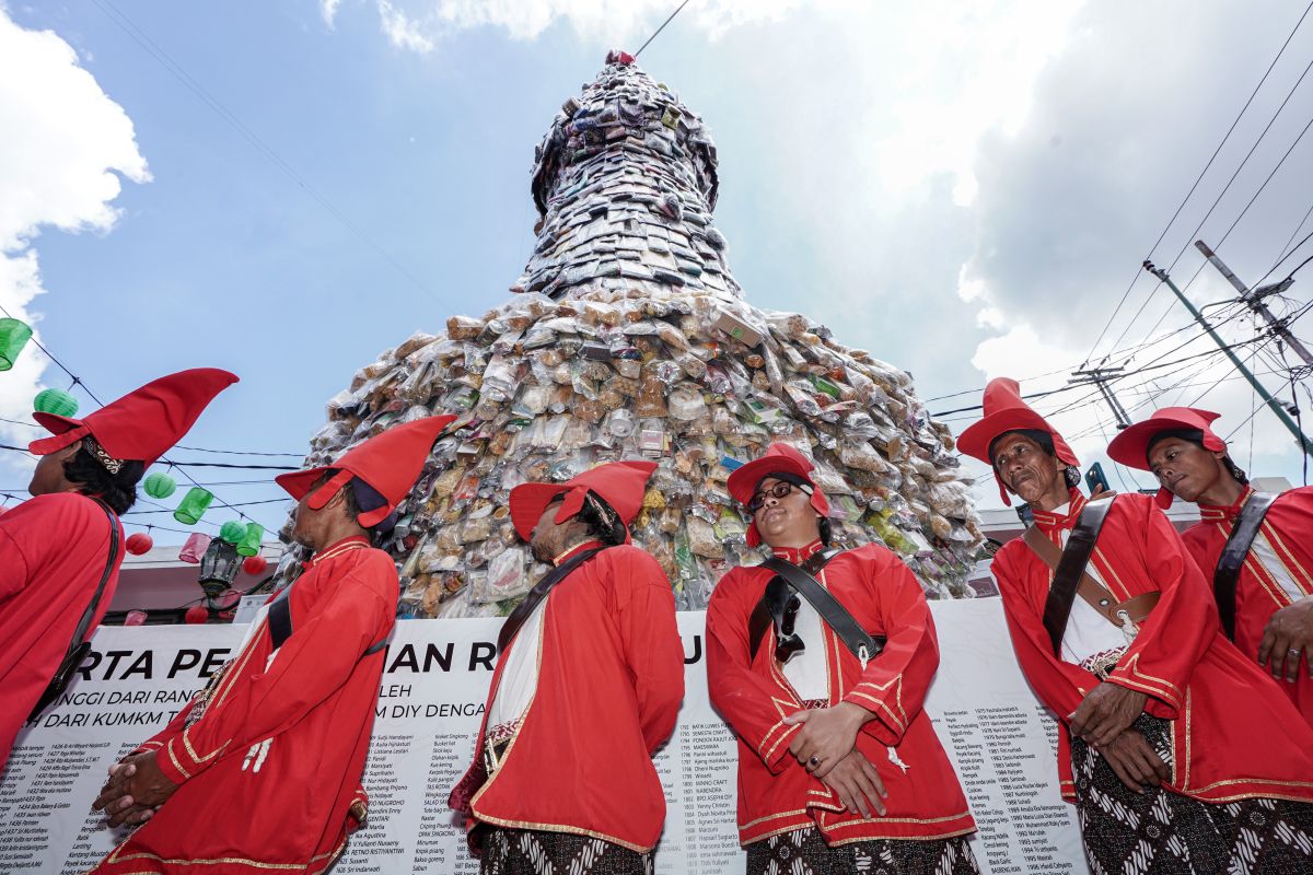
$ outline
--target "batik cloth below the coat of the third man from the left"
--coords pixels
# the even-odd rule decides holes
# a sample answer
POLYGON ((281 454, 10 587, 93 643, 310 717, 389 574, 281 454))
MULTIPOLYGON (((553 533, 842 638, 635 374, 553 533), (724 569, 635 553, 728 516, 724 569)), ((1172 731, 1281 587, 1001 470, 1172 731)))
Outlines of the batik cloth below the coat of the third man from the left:
POLYGON ((481 875, 653 875, 653 854, 591 836, 486 828, 481 875))

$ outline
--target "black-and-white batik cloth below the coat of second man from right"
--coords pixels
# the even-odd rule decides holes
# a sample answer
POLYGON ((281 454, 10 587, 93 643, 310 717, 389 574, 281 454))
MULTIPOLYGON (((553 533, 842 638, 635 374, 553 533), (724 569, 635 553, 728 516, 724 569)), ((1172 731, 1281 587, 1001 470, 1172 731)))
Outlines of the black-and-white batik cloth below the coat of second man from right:
MULTIPOLYGON (((1169 767, 1171 724, 1140 715, 1169 767)), ((1207 803, 1162 788, 1138 794, 1082 739, 1071 740, 1077 811, 1092 875, 1296 875, 1313 871, 1313 804, 1207 803)))

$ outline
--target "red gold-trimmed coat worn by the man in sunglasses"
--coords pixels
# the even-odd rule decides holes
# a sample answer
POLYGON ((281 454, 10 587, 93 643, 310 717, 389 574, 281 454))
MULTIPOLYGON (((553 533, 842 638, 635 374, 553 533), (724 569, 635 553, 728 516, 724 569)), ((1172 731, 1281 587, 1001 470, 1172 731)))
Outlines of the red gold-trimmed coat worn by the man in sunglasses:
MULTIPOLYGON (((821 547, 786 552, 801 561, 821 547)), ((739 841, 815 826, 826 842, 872 838, 932 840, 976 830, 957 774, 930 716, 922 710, 939 668, 939 643, 920 584, 898 556, 878 544, 840 552, 817 577, 872 635, 886 635, 880 656, 863 670, 857 657, 827 627, 822 640, 804 639, 826 660, 829 703, 852 702, 874 716, 857 733, 857 750, 889 791, 888 813, 848 813, 838 794, 789 753, 801 727, 784 718, 802 699, 775 659, 769 630, 750 659, 748 618, 775 573, 734 568, 706 606, 706 673, 712 703, 739 739, 739 841)), ((804 634, 797 627, 798 634, 804 634)))

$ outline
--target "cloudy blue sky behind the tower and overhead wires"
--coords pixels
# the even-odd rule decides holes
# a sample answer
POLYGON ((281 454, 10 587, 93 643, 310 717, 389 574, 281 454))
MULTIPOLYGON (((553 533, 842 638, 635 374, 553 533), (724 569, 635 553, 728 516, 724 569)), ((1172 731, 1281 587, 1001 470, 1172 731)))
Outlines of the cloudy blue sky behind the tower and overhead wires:
MULTIPOLYGON (((16 75, 0 87, 0 118, 30 131, 25 157, 0 147, 0 194, 32 194, 17 201, 26 211, 0 211, 0 303, 39 316, 42 341, 105 399, 171 370, 227 367, 242 383, 185 443, 299 453, 323 403, 357 367, 415 331, 440 331, 448 316, 507 296, 533 240, 534 144, 607 49, 637 47, 674 5, 0 5, 9 45, 24 47, 8 62, 16 75), (173 72, 130 35, 134 28, 173 72), (75 54, 60 55, 68 47, 75 54), (80 85, 56 87, 66 80, 80 85), (64 148, 70 142, 76 148, 64 148), (106 194, 106 173, 121 180, 117 194, 106 194), (20 275, 22 264, 39 264, 42 294, 32 296, 35 278, 20 275)), ((911 370, 919 394, 935 397, 1088 354, 1302 8, 1258 5, 693 0, 639 63, 710 126, 721 156, 717 223, 748 298, 815 316, 843 342, 911 370)), ((1310 56, 1306 21, 1155 260, 1170 262, 1192 239, 1310 56)), ((1204 223, 1205 239, 1221 237, 1310 114, 1306 81, 1204 223)), ((1313 203, 1310 164, 1313 143, 1301 140, 1222 247, 1242 275, 1271 266, 1313 203)), ((1174 273, 1183 282, 1197 265, 1190 249, 1174 273)), ((1099 356, 1124 327, 1119 346, 1152 333, 1161 312, 1169 316, 1158 333, 1186 323, 1153 286, 1134 286, 1128 306, 1149 306, 1136 321, 1124 311, 1099 356)), ((1313 275, 1292 298, 1306 302, 1309 287, 1313 275)), ((1205 273, 1191 294, 1203 303, 1226 287, 1205 273)), ((1225 331, 1232 340, 1251 335, 1239 320, 1225 331)), ((1146 346, 1128 367, 1192 333, 1146 346)), ((1173 358, 1207 349, 1199 341, 1173 358)), ((1188 403, 1225 370, 1154 376, 1127 383, 1123 403, 1146 404, 1133 416, 1155 397, 1188 403)), ((53 366, 0 375, 0 416, 22 418, 38 386, 67 380, 53 366)), ((976 403, 978 394, 930 408, 976 403)), ((1200 404, 1232 425, 1253 409, 1238 380, 1200 404)), ((1100 405, 1079 404, 1057 422, 1069 434, 1092 429, 1077 447, 1092 459, 1099 418, 1108 418, 1100 405)), ((1300 457, 1272 417, 1254 424, 1253 471, 1299 480, 1300 457)), ((22 426, 4 429, 5 442, 29 437, 22 426)), ((1236 437, 1242 464, 1247 438, 1246 426, 1236 437)), ((25 464, 4 454, 0 487, 22 487, 25 464)), ((268 484, 215 492, 228 502, 278 496, 268 484)), ((997 505, 989 484, 979 493, 982 506, 997 505)), ((285 508, 248 512, 274 529, 285 508)), ((215 523, 230 516, 210 512, 215 523)), ((177 525, 168 514, 135 519, 177 525)))

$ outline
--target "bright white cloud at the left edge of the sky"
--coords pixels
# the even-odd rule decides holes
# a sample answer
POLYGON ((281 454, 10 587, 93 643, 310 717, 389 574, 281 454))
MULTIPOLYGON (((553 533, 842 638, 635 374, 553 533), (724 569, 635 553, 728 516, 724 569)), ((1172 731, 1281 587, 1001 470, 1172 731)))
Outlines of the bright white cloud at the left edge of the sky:
MULTIPOLYGON (((0 304, 35 325, 46 290, 33 240, 42 227, 108 232, 118 219, 119 174, 148 181, 133 122, 49 30, 24 30, 0 7, 0 304)), ((39 332, 37 332, 39 338, 39 332)), ((0 416, 22 420, 47 365, 29 342, 0 379, 0 416)), ((0 422, 26 442, 30 429, 0 422)), ((7 462, 11 462, 7 457, 7 462)))

